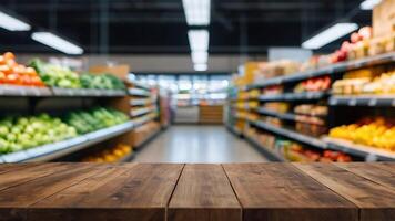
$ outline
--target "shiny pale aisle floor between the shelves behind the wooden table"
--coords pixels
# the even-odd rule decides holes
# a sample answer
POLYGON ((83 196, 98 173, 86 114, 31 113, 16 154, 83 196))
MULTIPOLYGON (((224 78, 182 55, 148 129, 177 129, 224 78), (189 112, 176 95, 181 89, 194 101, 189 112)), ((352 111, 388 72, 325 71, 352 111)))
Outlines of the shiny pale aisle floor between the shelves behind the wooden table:
POLYGON ((224 126, 171 126, 136 152, 139 162, 262 162, 266 159, 224 126))

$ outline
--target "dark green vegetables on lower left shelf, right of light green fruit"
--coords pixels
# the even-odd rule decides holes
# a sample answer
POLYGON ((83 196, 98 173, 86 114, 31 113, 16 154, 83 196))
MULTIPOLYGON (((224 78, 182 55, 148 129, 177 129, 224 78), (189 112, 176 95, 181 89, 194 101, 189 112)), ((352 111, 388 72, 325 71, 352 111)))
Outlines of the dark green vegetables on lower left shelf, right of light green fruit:
POLYGON ((87 134, 128 120, 129 117, 122 112, 103 107, 97 107, 91 110, 71 112, 64 117, 64 122, 73 126, 78 134, 87 134))

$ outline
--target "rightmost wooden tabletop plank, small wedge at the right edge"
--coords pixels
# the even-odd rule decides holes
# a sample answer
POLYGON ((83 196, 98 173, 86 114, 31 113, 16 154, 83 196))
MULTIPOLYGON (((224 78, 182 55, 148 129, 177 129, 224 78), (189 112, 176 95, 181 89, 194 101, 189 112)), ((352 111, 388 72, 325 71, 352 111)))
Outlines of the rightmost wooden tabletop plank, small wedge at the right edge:
POLYGON ((377 162, 343 162, 336 164, 336 166, 395 191, 395 168, 393 169, 388 165, 377 162))

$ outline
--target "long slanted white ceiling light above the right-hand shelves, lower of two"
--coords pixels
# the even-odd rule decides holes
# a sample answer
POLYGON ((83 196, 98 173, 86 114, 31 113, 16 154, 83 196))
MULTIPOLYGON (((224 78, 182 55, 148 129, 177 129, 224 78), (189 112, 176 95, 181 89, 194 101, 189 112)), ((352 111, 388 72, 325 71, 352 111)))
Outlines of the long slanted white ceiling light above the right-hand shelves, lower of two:
POLYGON ((302 46, 305 49, 320 49, 357 29, 358 25, 356 23, 337 23, 303 42, 302 46))

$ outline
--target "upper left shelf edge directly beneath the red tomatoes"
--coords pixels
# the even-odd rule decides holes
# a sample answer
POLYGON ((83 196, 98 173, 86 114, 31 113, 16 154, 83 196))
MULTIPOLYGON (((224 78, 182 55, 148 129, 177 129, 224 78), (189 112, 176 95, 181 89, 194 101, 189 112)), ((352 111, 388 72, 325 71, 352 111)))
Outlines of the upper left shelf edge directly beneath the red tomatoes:
POLYGON ((43 97, 51 95, 52 93, 48 87, 0 85, 0 96, 43 97))

